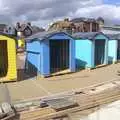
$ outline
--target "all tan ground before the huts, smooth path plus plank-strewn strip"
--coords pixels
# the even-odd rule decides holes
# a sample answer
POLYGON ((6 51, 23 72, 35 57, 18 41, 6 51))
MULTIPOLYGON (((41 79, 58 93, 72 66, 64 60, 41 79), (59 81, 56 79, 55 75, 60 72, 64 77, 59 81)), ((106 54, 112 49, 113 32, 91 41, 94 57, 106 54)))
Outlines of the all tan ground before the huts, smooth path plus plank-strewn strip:
POLYGON ((61 76, 36 76, 1 83, 0 118, 82 120, 83 116, 120 100, 119 67, 120 63, 117 63, 61 76))

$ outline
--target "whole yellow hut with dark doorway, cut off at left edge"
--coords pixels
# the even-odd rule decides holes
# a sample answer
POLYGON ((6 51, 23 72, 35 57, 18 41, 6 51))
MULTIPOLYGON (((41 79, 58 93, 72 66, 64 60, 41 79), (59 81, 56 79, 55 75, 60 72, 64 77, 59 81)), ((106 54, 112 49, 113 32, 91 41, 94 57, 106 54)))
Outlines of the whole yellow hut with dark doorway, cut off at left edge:
POLYGON ((0 35, 0 82, 15 81, 17 79, 16 67, 16 41, 7 36, 0 35))

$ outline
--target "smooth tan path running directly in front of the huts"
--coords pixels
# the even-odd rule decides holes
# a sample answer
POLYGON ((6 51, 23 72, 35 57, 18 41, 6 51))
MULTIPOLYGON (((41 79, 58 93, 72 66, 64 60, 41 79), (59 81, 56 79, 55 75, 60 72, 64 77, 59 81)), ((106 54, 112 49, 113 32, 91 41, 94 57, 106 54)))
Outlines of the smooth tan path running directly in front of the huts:
POLYGON ((42 97, 120 79, 117 74, 119 70, 120 63, 117 63, 91 71, 82 70, 61 76, 0 84, 0 101, 7 99, 13 102, 42 97))

